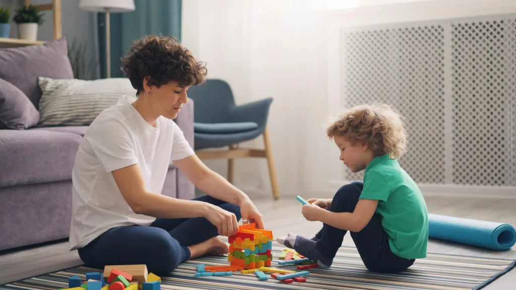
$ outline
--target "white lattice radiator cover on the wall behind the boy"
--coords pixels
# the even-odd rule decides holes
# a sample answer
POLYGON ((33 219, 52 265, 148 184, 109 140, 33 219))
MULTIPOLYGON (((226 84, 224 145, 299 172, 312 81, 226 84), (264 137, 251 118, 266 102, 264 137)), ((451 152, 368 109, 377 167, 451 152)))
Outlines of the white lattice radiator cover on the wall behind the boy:
POLYGON ((516 15, 342 28, 340 40, 341 105, 406 118, 399 161, 417 183, 516 193, 516 15))

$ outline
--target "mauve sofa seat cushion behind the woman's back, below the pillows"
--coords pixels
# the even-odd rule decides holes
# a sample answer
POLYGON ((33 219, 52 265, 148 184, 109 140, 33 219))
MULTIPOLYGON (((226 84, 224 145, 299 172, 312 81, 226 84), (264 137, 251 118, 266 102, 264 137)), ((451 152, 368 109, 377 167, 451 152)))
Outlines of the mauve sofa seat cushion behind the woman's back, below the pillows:
POLYGON ((0 187, 71 180, 81 136, 47 130, 0 130, 0 187))

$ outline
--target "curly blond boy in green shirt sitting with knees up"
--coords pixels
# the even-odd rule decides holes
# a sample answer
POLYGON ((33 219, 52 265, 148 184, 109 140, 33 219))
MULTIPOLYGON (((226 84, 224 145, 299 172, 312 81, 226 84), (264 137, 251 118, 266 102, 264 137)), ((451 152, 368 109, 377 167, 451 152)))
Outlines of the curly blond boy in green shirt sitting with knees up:
POLYGON ((327 128, 327 135, 352 172, 365 169, 364 182, 341 187, 333 200, 308 200, 302 214, 324 223, 322 229, 311 239, 289 233, 278 242, 326 268, 347 231, 370 271, 395 273, 426 257, 425 200, 397 161, 406 146, 400 116, 387 105, 353 107, 327 128))

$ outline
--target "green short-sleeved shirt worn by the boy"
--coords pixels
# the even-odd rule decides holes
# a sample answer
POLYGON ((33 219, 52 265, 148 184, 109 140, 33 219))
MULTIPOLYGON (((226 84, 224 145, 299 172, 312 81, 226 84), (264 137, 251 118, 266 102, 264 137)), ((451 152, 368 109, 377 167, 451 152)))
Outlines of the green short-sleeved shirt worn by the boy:
POLYGON ((360 199, 378 200, 376 213, 389 235, 394 254, 405 259, 426 257, 428 210, 425 199, 398 160, 378 156, 365 169, 360 199))

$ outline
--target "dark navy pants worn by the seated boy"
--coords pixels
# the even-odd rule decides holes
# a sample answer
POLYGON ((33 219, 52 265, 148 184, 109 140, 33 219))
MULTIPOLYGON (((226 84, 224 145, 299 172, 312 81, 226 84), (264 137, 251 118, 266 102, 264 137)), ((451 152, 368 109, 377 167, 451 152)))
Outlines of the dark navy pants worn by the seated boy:
MULTIPOLYGON (((358 203, 364 184, 353 182, 337 190, 329 210, 334 213, 352 213, 358 203)), ((345 230, 324 224, 317 233, 316 247, 319 253, 334 257, 341 247, 345 230)), ((383 230, 381 216, 377 213, 360 232, 351 232, 351 238, 367 269, 379 273, 396 273, 412 266, 414 259, 404 259, 395 255, 389 246, 389 236, 383 230)))

